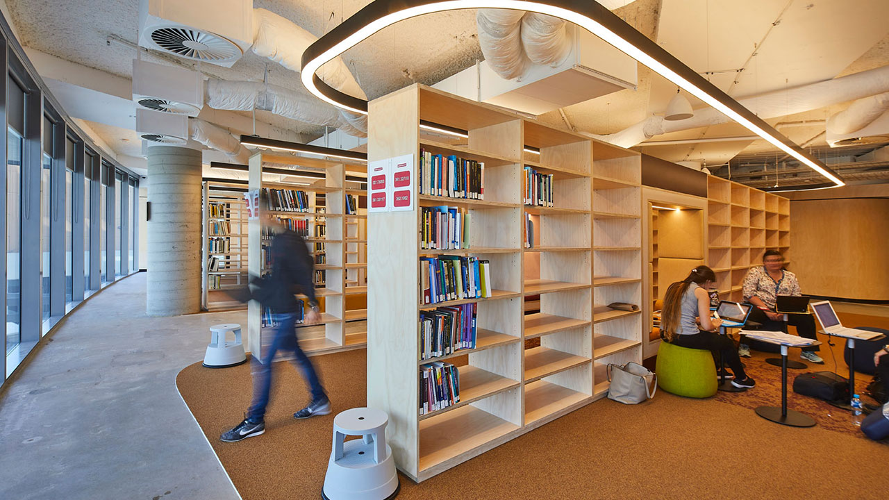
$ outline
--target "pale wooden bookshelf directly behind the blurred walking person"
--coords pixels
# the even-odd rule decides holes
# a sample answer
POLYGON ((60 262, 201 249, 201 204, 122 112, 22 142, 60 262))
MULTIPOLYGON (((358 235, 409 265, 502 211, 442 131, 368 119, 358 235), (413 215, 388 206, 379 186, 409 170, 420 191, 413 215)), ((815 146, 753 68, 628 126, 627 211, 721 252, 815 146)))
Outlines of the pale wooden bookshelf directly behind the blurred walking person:
MULTIPOLYGON (((349 304, 363 299, 367 290, 365 239, 362 238, 367 216, 364 209, 349 214, 346 197, 354 197, 357 207, 359 200, 363 203, 365 191, 359 189, 359 183, 346 181, 346 172, 364 175, 366 165, 260 152, 250 158, 249 169, 251 191, 268 188, 306 194, 305 212, 259 208, 260 214, 271 214, 294 225, 303 224, 308 251, 315 261, 315 294, 322 320, 318 325, 300 327, 300 347, 310 354, 363 348, 367 338, 366 309, 350 308, 349 304), (293 170, 293 176, 262 173, 264 165, 275 165, 276 172, 282 166, 287 167, 293 170), (324 178, 312 181, 309 177, 306 181, 300 172, 323 173, 324 178), (291 178, 295 181, 281 181, 291 178)), ((270 236, 263 234, 260 221, 261 218, 256 218, 247 223, 247 267, 254 276, 267 272, 265 249, 271 244, 270 236)), ((363 301, 357 302, 363 305, 363 301)), ((272 341, 271 328, 264 324, 262 312, 258 302, 248 303, 247 345, 257 359, 262 359, 261 353, 272 341)))

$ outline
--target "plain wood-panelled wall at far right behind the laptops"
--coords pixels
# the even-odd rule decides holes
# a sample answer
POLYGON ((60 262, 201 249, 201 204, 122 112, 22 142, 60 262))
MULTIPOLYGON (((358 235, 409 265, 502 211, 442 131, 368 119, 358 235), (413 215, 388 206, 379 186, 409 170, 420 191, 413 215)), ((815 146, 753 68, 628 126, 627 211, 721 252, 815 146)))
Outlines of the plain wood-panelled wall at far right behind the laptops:
POLYGON ((889 301, 889 198, 793 200, 790 226, 804 294, 889 301))

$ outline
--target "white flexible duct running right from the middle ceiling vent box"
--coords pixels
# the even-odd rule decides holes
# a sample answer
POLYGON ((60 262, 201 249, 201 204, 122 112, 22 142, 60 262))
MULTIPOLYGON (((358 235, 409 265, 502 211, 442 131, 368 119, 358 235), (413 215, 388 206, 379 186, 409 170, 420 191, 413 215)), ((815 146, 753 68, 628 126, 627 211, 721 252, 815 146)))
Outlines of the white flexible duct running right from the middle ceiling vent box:
POLYGON ((354 119, 353 122, 352 117, 347 117, 339 109, 317 100, 314 96, 297 93, 277 85, 208 80, 204 94, 207 106, 212 109, 232 111, 262 109, 301 122, 332 126, 356 137, 367 135, 366 119, 354 119))

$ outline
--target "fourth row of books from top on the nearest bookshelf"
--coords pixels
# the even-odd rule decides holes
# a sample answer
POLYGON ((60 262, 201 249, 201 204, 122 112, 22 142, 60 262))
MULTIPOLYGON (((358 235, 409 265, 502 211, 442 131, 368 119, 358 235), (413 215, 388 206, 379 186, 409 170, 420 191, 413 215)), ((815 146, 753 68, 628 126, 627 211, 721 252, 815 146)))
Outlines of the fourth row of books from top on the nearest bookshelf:
POLYGON ((476 302, 420 311, 420 360, 476 348, 476 302))

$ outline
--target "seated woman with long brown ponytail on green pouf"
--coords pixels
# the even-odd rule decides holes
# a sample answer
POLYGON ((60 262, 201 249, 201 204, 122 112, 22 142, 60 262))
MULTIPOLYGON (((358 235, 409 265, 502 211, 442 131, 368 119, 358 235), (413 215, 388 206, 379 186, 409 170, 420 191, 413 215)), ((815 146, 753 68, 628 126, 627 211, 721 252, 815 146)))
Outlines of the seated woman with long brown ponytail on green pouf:
POLYGON ((722 321, 710 318, 708 290, 716 279, 709 267, 698 266, 687 278, 667 288, 661 310, 661 336, 679 347, 708 350, 715 355, 721 353, 734 373, 732 385, 753 387, 756 382, 744 373, 732 340, 716 333, 722 321))

